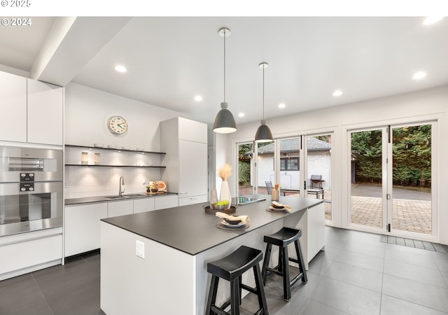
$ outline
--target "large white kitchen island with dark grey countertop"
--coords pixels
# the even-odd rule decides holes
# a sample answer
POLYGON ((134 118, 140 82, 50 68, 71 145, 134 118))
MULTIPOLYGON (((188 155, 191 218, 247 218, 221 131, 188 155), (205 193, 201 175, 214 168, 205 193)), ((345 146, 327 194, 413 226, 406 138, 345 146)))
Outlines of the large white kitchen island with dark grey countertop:
MULTIPOLYGON (((265 249, 263 236, 283 226, 302 229, 305 267, 324 246, 323 200, 281 197, 288 214, 266 211, 266 200, 240 205, 246 230, 222 230, 202 204, 106 218, 101 222, 101 308, 114 314, 204 314, 210 276, 207 263, 239 246, 265 249)), ((293 255, 294 251, 290 251, 293 255)), ((276 253, 273 253, 275 255, 276 253)), ((253 285, 251 273, 244 281, 253 285)), ((230 293, 221 281, 218 299, 230 293)))

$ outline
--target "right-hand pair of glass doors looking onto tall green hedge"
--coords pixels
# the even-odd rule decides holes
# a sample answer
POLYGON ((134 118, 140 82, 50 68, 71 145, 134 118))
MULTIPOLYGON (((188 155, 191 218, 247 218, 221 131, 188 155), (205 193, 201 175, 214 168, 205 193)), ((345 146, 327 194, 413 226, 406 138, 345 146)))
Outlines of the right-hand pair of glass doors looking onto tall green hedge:
POLYGON ((349 225, 403 237, 434 236, 435 123, 349 132, 349 225))

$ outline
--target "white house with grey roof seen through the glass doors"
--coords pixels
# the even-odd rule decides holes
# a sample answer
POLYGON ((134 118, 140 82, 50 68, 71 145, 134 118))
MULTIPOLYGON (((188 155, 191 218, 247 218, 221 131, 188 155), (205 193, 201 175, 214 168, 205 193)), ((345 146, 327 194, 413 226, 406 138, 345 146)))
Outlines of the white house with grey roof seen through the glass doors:
MULTIPOLYGON (((307 137, 308 171, 307 187, 311 175, 322 175, 322 187, 330 190, 331 144, 307 137)), ((280 186, 281 188, 300 188, 300 139, 279 139, 280 144, 280 186)), ((253 167, 251 163, 251 167, 253 167)), ((253 174, 253 169, 251 169, 253 174)), ((252 181, 253 179, 251 179, 252 181)), ((266 186, 265 181, 274 184, 274 143, 258 148, 258 186, 266 186)))

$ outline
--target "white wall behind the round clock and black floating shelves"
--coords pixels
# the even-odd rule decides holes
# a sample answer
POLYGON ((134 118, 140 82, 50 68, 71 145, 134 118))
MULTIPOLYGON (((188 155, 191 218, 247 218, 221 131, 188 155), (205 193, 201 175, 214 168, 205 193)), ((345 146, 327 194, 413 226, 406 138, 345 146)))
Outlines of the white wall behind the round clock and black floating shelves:
MULTIPOLYGON (((189 118, 175 111, 70 83, 65 89, 65 144, 93 146, 100 143, 104 146, 129 146, 131 149, 144 148, 145 151, 158 152, 160 121, 177 116, 189 118), (109 132, 106 121, 113 115, 123 116, 127 120, 129 129, 126 134, 116 136, 109 132)), ((68 150, 66 153, 70 154, 68 150)), ((76 154, 76 157, 66 156, 66 160, 78 159, 78 152, 71 154, 76 154)), ((101 155, 102 160, 105 160, 106 153, 101 155)), ((132 155, 127 156, 128 161, 129 158, 132 159, 132 155)), ((157 165, 160 158, 153 155, 151 159, 153 165, 157 165)), ((116 195, 120 176, 125 179, 125 193, 144 193, 144 181, 160 179, 160 172, 160 169, 150 168, 66 167, 64 197, 116 195)))

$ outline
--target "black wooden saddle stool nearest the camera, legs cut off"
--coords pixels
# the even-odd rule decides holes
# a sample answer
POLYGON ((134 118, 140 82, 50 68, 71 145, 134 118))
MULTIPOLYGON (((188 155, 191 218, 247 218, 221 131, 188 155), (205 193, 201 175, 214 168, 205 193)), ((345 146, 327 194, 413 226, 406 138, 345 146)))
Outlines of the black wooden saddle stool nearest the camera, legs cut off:
POLYGON ((230 255, 209 262, 207 264, 207 271, 212 274, 209 298, 207 300, 206 315, 219 314, 228 315, 224 309, 230 305, 231 315, 239 315, 239 304, 241 304, 241 288, 248 290, 251 293, 258 295, 258 304, 260 309, 255 314, 267 315, 267 302, 265 296, 265 288, 263 286, 262 276, 260 272, 260 262, 263 258, 262 251, 258 249, 250 248, 247 246, 241 246, 230 255), (253 268, 253 275, 255 276, 256 288, 251 288, 241 283, 241 275, 248 269, 253 268), (216 306, 216 293, 218 291, 219 279, 225 279, 230 281, 230 300, 225 302, 221 307, 216 306))

